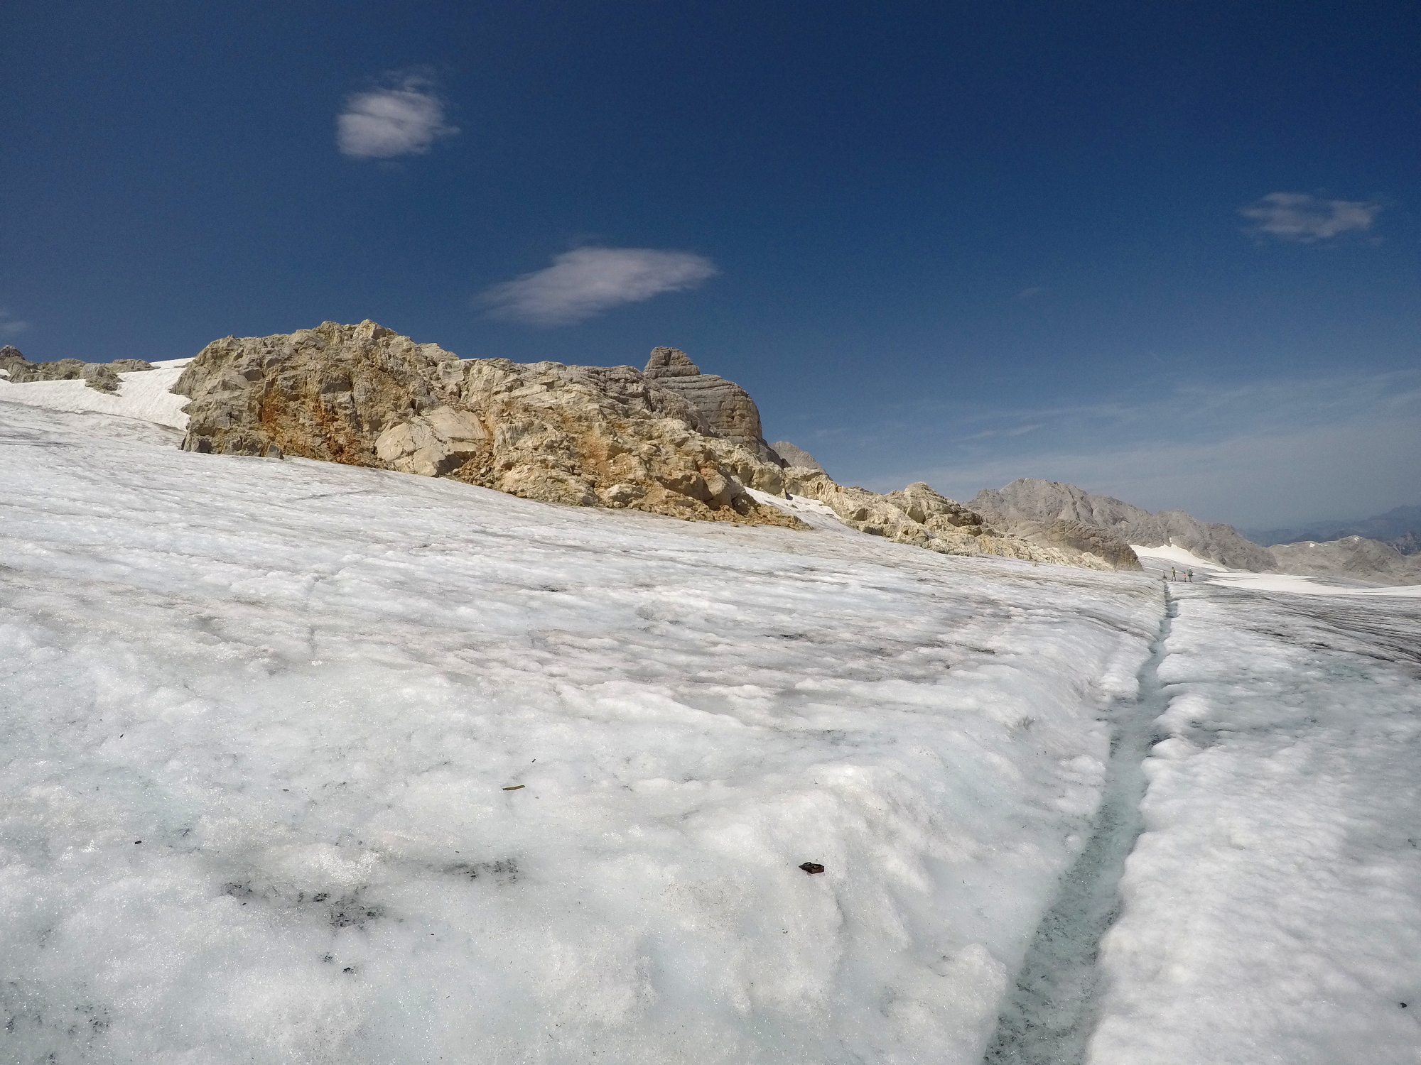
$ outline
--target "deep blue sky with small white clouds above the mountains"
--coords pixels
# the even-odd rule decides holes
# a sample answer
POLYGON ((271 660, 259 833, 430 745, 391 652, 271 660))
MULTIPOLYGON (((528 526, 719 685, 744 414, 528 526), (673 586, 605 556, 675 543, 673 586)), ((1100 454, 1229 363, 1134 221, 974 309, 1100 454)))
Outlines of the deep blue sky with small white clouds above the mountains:
POLYGON ((1421 7, 0 14, 0 341, 374 318, 745 385, 844 481, 1421 501, 1421 7))

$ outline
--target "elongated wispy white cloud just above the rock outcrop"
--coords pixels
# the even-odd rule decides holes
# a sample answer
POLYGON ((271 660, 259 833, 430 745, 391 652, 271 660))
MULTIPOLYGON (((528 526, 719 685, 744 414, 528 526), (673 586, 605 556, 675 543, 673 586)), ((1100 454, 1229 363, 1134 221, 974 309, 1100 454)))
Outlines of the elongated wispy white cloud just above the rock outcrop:
POLYGON ((715 274, 715 263, 689 251, 580 247, 556 256, 546 270, 493 285, 479 302, 493 318, 571 325, 608 307, 695 288, 715 274))

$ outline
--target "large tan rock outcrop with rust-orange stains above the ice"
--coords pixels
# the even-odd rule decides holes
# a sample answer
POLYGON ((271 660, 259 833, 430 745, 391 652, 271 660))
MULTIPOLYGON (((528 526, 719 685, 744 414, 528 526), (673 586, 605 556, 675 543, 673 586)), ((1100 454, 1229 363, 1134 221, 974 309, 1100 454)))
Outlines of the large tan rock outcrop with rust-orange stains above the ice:
POLYGON ((547 503, 801 525, 746 491, 782 494, 777 463, 702 432, 698 408, 631 366, 460 359, 371 321, 324 322, 213 341, 173 390, 192 398, 188 450, 296 454, 547 503))

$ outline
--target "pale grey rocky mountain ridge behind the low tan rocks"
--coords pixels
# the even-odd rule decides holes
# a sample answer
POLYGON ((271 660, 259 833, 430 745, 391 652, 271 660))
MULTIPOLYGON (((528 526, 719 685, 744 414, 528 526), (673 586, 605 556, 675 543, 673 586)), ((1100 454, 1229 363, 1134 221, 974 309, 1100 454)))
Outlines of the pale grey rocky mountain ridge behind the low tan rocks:
POLYGON ((1069 523, 1043 525, 1037 535, 1049 540, 1059 537, 1061 542, 1069 542, 1079 535, 1071 531, 1076 525, 1087 525, 1108 534, 1117 545, 1182 547, 1235 569, 1276 569, 1268 548, 1245 540, 1232 525, 1199 521, 1182 510, 1151 514, 1110 496, 1091 496, 1074 484, 1022 477, 1005 488, 979 491, 972 498, 972 506, 993 525, 1017 535, 1027 531, 1023 523, 1069 523))

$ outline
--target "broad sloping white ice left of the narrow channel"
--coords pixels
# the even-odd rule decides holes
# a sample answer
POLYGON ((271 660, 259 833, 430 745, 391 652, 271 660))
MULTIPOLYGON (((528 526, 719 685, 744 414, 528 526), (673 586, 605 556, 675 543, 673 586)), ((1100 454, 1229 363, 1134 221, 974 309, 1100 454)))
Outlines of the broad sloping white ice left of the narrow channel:
POLYGON ((121 413, 0 405, 11 1059, 980 1058, 1157 579, 121 413))

